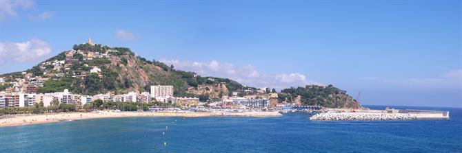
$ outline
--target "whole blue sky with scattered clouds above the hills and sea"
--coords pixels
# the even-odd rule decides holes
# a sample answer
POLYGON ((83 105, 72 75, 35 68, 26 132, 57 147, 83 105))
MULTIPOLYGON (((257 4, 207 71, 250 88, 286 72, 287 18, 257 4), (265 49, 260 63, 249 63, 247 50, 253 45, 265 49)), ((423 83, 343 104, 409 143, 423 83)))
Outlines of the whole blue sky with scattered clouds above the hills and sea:
POLYGON ((0 0, 0 73, 90 37, 248 86, 462 107, 462 1, 0 0))

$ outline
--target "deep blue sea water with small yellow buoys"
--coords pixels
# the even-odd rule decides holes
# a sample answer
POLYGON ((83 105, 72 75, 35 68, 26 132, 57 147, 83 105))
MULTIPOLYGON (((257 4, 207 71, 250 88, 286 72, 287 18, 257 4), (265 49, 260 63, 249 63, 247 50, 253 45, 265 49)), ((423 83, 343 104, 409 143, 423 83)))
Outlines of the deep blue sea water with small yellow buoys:
POLYGON ((0 152, 462 152, 462 108, 414 109, 449 110, 451 119, 309 121, 303 113, 89 119, 0 128, 0 152))

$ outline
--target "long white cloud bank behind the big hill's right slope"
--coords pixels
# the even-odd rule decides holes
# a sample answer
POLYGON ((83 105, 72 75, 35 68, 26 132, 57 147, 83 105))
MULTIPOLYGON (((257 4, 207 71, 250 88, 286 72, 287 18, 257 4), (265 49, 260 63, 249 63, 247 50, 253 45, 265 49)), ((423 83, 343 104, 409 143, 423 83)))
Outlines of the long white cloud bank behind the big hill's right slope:
POLYGON ((322 85, 317 82, 307 80, 305 75, 300 73, 283 73, 277 75, 261 74, 257 68, 252 65, 234 67, 233 64, 226 62, 221 63, 216 60, 212 60, 210 62, 188 62, 161 59, 160 61, 168 65, 173 64, 175 69, 194 71, 203 76, 230 78, 248 86, 284 89, 290 86, 305 86, 308 84, 322 85))

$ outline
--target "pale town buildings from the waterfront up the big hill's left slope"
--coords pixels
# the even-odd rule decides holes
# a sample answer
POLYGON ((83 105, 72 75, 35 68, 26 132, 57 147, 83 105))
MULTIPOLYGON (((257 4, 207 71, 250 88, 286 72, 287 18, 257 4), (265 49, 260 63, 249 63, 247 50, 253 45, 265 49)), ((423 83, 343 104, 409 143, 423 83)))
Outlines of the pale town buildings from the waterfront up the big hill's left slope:
MULTIPOLYGON (((109 48, 107 46, 96 45, 89 38, 88 43, 81 44, 80 49, 63 52, 63 59, 52 59, 41 62, 38 67, 32 71, 23 71, 15 73, 12 77, 0 77, 0 108, 14 107, 32 107, 35 104, 41 104, 44 107, 52 105, 53 101, 59 104, 72 104, 77 107, 90 104, 96 99, 103 102, 133 102, 133 103, 151 103, 161 102, 177 108, 238 108, 238 109, 268 109, 270 98, 277 98, 278 94, 273 91, 270 93, 269 88, 263 89, 242 89, 241 92, 225 91, 225 95, 210 95, 205 99, 199 97, 174 97, 174 86, 172 85, 152 85, 149 91, 126 91, 123 94, 114 92, 97 93, 94 95, 84 95, 72 93, 69 89, 51 92, 44 88, 45 82, 52 82, 62 78, 75 78, 77 80, 86 80, 91 75, 97 78, 105 78, 103 75, 103 63, 116 64, 124 62, 125 58, 117 55, 123 53, 123 49, 109 48), (83 47, 82 47, 83 46, 83 47), (104 51, 87 51, 92 49, 102 49, 104 51), (65 57, 65 58, 64 58, 65 57), (120 61, 121 60, 121 61, 120 61), (99 62, 97 62, 99 61, 99 62), (76 65, 79 67, 76 68, 76 65), (101 66, 101 67, 98 67, 101 66), (37 69, 37 71, 34 71, 37 69), (79 71, 77 71, 79 70, 79 71), (241 93, 260 93, 259 96, 250 95, 243 97, 241 93)), ((74 46, 74 48, 76 48, 74 46)), ((77 47, 79 48, 79 47, 77 47)), ((126 64, 126 61, 125 61, 126 64)), ((197 77, 194 75, 194 77, 197 77)), ((214 82, 214 78, 207 78, 208 82, 214 82)), ((117 80, 112 80, 115 82, 117 80)), ((126 82, 125 82, 126 83, 126 82)), ((218 82, 218 86, 226 89, 226 82, 218 82)), ((45 86, 47 87, 47 86, 45 86)), ((210 90, 213 86, 197 86, 197 89, 210 90)), ((217 89, 215 89, 217 90, 217 89)), ((194 91, 192 91, 194 92, 194 91)), ((222 91, 221 91, 222 92, 222 91)), ((276 104, 273 104, 276 106, 276 104)), ((281 105, 279 105, 281 106, 281 105)))

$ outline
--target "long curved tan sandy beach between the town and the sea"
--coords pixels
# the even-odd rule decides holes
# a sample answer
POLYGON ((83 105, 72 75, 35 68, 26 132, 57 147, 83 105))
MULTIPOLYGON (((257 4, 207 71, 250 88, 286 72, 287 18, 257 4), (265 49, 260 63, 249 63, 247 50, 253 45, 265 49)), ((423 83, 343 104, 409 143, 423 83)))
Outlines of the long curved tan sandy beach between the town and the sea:
POLYGON ((278 112, 243 113, 174 113, 174 112, 119 112, 100 111, 99 113, 55 113, 43 115, 14 115, 0 119, 0 127, 25 126, 37 123, 54 123, 77 119, 99 119, 112 117, 279 117, 278 112))

